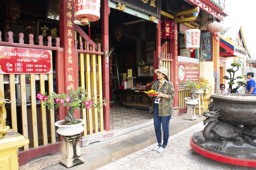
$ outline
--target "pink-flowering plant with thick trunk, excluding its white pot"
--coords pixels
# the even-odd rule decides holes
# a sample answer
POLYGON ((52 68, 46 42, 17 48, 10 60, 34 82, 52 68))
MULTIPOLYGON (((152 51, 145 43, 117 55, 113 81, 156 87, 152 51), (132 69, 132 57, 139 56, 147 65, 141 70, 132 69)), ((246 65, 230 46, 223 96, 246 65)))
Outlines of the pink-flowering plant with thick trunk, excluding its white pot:
MULTIPOLYGON (((77 90, 70 90, 67 94, 56 94, 52 93, 47 96, 47 93, 37 94, 37 98, 44 102, 44 105, 47 106, 48 110, 53 108, 60 107, 63 104, 65 107, 69 107, 67 116, 65 117, 64 125, 72 125, 79 123, 79 119, 74 117, 74 111, 81 108, 90 109, 92 106, 97 108, 97 112, 102 108, 101 101, 96 101, 94 98, 89 98, 88 93, 81 87, 77 88, 77 90)), ((106 105, 106 99, 103 101, 103 105, 106 105)))

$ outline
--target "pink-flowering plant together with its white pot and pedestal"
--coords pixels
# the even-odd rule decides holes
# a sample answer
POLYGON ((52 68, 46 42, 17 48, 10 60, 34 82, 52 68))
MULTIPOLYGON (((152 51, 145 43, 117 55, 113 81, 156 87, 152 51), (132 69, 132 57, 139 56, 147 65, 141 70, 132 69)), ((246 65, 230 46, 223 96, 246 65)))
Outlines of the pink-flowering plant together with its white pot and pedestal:
POLYGON ((80 133, 84 130, 82 125, 85 121, 84 119, 77 119, 74 117, 74 111, 76 109, 80 111, 81 108, 90 109, 95 107, 97 108, 97 112, 99 112, 102 108, 101 102, 105 105, 106 99, 103 101, 96 101, 95 99, 88 97, 88 93, 81 87, 76 91, 71 89, 67 94, 52 93, 47 96, 46 93, 38 93, 37 98, 41 102, 44 102, 44 105, 47 106, 48 110, 58 108, 60 105, 69 108, 65 119, 55 122, 55 126, 58 127, 57 133, 64 139, 61 144, 63 151, 61 163, 66 167, 84 163, 80 153, 79 139, 81 136, 80 133))

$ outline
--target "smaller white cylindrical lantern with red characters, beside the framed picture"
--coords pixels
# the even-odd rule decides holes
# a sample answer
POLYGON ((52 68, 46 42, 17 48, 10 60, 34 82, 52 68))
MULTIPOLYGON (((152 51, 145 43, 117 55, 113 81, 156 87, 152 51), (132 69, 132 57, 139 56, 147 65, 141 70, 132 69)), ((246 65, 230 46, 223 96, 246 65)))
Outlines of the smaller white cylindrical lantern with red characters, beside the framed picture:
POLYGON ((195 48, 200 48, 200 29, 188 29, 185 31, 185 44, 189 52, 193 52, 195 48))

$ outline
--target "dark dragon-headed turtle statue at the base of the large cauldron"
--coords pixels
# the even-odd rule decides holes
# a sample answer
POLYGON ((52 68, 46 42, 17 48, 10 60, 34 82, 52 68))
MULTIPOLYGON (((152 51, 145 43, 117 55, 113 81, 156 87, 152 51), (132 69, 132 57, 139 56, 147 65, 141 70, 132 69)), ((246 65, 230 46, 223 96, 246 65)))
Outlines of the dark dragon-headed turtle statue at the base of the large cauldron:
MULTIPOLYGON (((212 107, 212 105, 209 107, 212 107)), ((212 111, 204 111, 204 116, 207 117, 207 119, 204 120, 204 125, 207 125, 203 130, 205 140, 199 139, 197 142, 199 144, 204 144, 211 142, 212 140, 221 141, 220 145, 215 146, 215 150, 223 150, 226 147, 228 140, 233 140, 235 141, 234 144, 242 146, 244 144, 244 139, 241 137, 242 132, 236 129, 233 125, 218 121, 220 109, 221 105, 218 108, 215 108, 214 105, 212 111)))

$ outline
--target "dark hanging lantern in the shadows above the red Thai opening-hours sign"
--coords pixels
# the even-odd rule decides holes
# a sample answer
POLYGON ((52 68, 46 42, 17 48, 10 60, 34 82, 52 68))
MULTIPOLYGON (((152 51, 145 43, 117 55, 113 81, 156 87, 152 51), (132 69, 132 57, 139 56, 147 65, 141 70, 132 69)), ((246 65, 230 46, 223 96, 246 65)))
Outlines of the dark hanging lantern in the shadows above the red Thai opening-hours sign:
POLYGON ((12 22, 15 24, 16 20, 20 18, 20 5, 15 0, 10 0, 7 3, 7 15, 12 18, 12 22))

